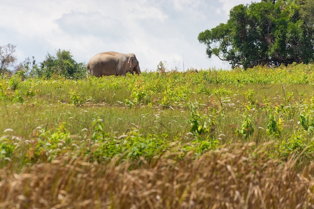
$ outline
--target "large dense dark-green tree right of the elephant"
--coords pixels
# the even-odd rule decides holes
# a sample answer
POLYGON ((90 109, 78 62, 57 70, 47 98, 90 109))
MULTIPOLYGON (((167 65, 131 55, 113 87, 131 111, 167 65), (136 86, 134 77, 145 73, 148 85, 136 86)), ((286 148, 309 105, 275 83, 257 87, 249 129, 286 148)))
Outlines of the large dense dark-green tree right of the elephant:
POLYGON ((238 5, 230 11, 226 24, 201 32, 198 40, 206 45, 209 58, 214 54, 233 68, 312 62, 314 30, 302 15, 303 2, 238 5))

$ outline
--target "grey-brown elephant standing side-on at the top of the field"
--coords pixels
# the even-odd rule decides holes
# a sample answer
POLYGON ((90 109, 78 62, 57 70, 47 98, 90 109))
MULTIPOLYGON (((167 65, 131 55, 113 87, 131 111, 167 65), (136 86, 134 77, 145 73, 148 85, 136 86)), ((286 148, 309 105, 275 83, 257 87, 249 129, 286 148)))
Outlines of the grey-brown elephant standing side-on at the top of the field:
POLYGON ((134 54, 117 52, 103 52, 92 57, 87 63, 88 71, 92 76, 126 76, 127 72, 140 74, 138 61, 134 54))

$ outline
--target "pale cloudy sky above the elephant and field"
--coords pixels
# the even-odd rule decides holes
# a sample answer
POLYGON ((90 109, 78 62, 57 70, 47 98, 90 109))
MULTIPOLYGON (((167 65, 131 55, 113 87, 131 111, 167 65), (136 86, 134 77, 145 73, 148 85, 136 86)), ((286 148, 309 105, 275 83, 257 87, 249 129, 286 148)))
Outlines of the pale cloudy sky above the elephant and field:
POLYGON ((0 0, 0 46, 16 45, 18 62, 37 63, 58 49, 87 64, 100 52, 134 53, 141 71, 230 69, 208 58, 198 35, 252 0, 0 0))

